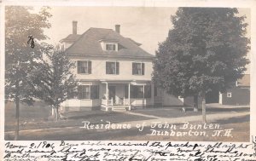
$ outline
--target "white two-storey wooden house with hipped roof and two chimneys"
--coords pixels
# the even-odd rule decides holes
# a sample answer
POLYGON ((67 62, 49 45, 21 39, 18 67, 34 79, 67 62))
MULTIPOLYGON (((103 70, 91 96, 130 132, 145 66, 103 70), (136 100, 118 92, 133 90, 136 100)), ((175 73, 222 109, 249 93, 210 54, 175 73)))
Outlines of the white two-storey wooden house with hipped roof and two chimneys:
MULTIPOLYGON (((76 62, 73 71, 79 81, 79 95, 61 104, 63 111, 131 110, 135 107, 163 105, 163 92, 151 81, 154 55, 140 48, 140 43, 115 31, 90 28, 77 34, 77 21, 73 21, 73 34, 62 39, 61 48, 76 62)), ((173 98, 172 104, 182 104, 173 98)), ((166 101, 170 98, 166 97, 166 101)), ((168 104, 168 103, 167 103, 168 104)))

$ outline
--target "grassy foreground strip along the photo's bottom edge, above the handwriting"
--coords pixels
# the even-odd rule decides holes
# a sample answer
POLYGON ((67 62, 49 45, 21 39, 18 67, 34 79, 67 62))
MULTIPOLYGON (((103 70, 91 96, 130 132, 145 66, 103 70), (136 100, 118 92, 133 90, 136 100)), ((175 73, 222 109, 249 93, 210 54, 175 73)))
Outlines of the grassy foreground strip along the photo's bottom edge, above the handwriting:
MULTIPOLYGON (((26 132, 20 135, 20 140, 44 140, 58 141, 249 141, 250 124, 249 115, 244 117, 217 120, 222 129, 233 129, 232 137, 206 137, 206 136, 169 136, 148 135, 150 128, 144 128, 142 132, 138 129, 111 129, 111 130, 88 130, 88 129, 57 129, 54 131, 44 130, 40 132, 26 132)), ((196 123, 195 123, 196 124, 196 123)), ((201 123, 200 123, 201 124, 201 123)), ((180 124, 176 124, 177 126, 180 124)), ((180 131, 185 131, 180 130, 180 131)), ((207 132, 212 132, 207 129, 207 132)))

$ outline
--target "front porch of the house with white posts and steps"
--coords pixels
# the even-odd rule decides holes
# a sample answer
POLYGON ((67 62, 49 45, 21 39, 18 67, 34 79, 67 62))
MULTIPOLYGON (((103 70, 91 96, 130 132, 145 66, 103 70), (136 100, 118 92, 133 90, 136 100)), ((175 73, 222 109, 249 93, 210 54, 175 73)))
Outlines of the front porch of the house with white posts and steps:
POLYGON ((151 83, 102 81, 102 111, 125 112, 151 104, 151 83), (136 93, 137 95, 134 95, 136 93), (148 94, 149 93, 149 94, 148 94))

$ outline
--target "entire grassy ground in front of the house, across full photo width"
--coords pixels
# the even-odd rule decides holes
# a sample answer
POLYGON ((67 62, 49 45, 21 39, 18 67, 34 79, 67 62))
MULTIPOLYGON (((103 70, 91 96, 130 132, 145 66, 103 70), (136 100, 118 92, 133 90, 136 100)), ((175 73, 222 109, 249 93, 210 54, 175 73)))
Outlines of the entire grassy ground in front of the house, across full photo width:
MULTIPOLYGON (((187 112, 181 112, 180 108, 149 108, 142 110, 133 110, 131 112, 154 115, 160 118, 182 118, 186 116, 200 116, 201 111, 193 112, 192 108, 188 108, 187 112)), ((249 112, 249 107, 239 108, 207 108, 207 113, 221 112, 249 112)), ((102 111, 83 111, 83 112, 67 112, 67 120, 58 122, 49 119, 51 109, 45 106, 43 102, 36 102, 34 106, 20 106, 20 130, 35 129, 22 131, 20 140, 115 140, 115 141, 249 141, 250 116, 229 118, 217 120, 214 123, 220 124, 222 129, 234 129, 233 137, 206 137, 206 136, 183 136, 174 137, 170 135, 148 135, 150 128, 144 128, 142 132, 136 128, 132 129, 81 129, 79 127, 84 124, 82 121, 90 121, 91 124, 99 124, 106 121, 111 123, 131 122, 155 119, 132 115, 123 112, 102 112, 102 111), (103 120, 103 122, 102 122, 103 120), (26 124, 24 124, 26 123, 26 124), (48 129, 49 128, 49 129, 48 129), (58 129, 50 129, 58 128, 58 129), (44 130, 37 130, 44 129, 44 130)), ((212 123, 212 124, 214 124, 212 123)), ((196 123, 195 123, 196 124, 196 123)), ((199 123, 201 124, 201 123, 199 123)), ((177 126, 180 124, 177 124, 177 126)), ((9 131, 15 130, 15 105, 8 103, 5 106, 5 140, 13 140, 14 135, 9 131)), ((207 129, 207 132, 208 129, 207 129)), ((211 131, 210 131, 211 132, 211 131)))

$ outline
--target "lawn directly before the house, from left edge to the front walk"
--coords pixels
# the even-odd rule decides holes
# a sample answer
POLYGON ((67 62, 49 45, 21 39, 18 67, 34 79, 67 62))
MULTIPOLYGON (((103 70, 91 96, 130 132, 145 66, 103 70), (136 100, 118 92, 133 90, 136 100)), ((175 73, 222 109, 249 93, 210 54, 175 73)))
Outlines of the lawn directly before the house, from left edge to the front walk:
MULTIPOLYGON (((122 112, 82 111, 67 112, 65 114, 67 120, 56 122, 49 119, 50 115, 51 109, 49 106, 45 106, 43 102, 38 101, 34 106, 22 105, 20 106, 20 130, 83 126, 82 121, 84 120, 96 124, 102 119, 112 123, 150 119, 122 112)), ((14 131, 15 126, 15 104, 8 103, 5 106, 5 132, 14 131)))

